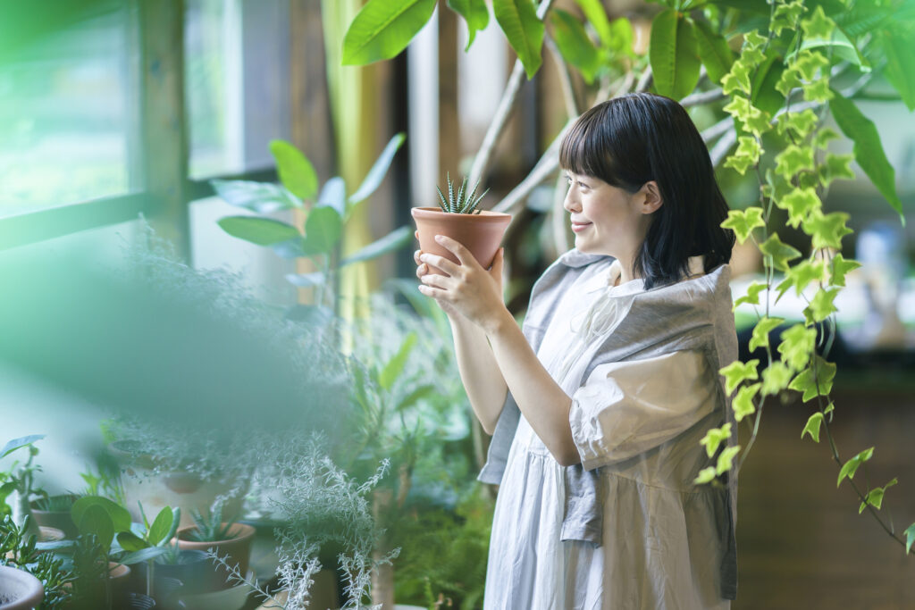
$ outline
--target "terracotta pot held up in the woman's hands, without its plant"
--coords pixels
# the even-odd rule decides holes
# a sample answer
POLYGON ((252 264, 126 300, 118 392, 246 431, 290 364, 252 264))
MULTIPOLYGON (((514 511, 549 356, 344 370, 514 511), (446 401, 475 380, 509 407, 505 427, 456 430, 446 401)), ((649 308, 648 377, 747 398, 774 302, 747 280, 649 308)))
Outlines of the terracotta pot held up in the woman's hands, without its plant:
MULTIPOLYGON (((459 241, 473 254, 484 269, 489 269, 499 251, 502 236, 511 222, 509 214, 483 210, 479 214, 451 214, 439 208, 414 208, 419 247, 422 251, 444 256, 458 262, 458 258, 436 241, 436 235, 447 235, 459 241)), ((447 275, 429 265, 431 273, 447 275)))

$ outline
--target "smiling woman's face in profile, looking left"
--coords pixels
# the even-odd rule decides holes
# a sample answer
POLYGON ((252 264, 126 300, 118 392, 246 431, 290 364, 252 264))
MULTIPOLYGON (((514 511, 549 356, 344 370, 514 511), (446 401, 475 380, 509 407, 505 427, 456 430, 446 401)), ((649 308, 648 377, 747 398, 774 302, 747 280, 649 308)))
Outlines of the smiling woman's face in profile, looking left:
POLYGON ((609 254, 630 263, 645 240, 651 224, 648 183, 635 193, 611 187, 603 180, 565 172, 569 190, 563 207, 568 210, 578 251, 609 254))

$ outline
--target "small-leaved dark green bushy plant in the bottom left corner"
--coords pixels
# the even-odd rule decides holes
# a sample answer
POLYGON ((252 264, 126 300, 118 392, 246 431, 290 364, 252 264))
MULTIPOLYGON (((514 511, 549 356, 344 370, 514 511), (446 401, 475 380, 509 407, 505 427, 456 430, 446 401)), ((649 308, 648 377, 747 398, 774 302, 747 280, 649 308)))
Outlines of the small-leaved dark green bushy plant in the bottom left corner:
POLYGON ((0 565, 25 570, 38 578, 45 588, 38 610, 56 610, 69 604, 76 575, 53 553, 42 552, 41 543, 29 531, 31 520, 26 517, 26 523, 17 526, 9 515, 0 519, 0 565))

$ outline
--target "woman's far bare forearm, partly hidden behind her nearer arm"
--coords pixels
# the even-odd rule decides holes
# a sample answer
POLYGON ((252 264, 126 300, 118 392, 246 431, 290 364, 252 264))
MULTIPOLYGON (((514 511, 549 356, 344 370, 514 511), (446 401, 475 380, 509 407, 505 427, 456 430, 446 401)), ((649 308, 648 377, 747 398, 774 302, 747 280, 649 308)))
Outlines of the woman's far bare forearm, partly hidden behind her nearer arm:
POLYGON ((461 381, 483 430, 491 434, 505 403, 508 386, 502 378, 486 333, 460 314, 448 316, 455 341, 461 381))

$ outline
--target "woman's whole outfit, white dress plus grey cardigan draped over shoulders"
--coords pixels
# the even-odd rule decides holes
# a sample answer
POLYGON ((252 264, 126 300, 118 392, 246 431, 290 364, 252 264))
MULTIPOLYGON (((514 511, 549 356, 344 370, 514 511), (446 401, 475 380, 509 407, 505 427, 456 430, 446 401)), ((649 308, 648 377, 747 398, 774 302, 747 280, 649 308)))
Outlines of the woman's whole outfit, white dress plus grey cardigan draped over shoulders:
POLYGON ((715 464, 700 439, 733 421, 729 269, 690 271, 614 285, 618 262, 573 250, 534 286, 524 335, 572 397, 582 464, 560 466, 509 396, 479 476, 500 485, 486 610, 730 607, 736 481, 694 484, 715 464))

